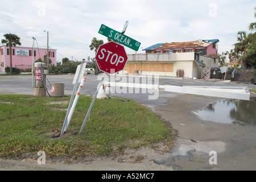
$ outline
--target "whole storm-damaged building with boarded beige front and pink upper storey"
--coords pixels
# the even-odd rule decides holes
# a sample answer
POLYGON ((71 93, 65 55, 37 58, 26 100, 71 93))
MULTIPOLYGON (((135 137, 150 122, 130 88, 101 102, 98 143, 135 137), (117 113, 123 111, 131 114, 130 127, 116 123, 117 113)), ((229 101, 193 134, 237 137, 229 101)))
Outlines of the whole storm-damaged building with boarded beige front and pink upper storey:
POLYGON ((183 43, 155 44, 146 53, 127 55, 123 74, 159 74, 159 76, 202 78, 207 67, 218 67, 218 39, 183 43))

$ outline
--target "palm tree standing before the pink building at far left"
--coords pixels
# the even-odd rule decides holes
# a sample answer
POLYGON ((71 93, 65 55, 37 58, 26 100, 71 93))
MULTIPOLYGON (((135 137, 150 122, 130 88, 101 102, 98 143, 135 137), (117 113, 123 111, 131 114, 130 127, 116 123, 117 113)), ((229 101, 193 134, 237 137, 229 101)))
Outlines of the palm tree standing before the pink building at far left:
POLYGON ((21 43, 19 42, 19 40, 21 40, 21 38, 19 38, 15 34, 5 34, 3 36, 5 37, 5 39, 2 39, 2 44, 6 44, 6 46, 9 47, 10 74, 12 75, 13 74, 13 59, 12 59, 12 54, 11 54, 11 47, 16 47, 16 45, 21 46, 21 43))

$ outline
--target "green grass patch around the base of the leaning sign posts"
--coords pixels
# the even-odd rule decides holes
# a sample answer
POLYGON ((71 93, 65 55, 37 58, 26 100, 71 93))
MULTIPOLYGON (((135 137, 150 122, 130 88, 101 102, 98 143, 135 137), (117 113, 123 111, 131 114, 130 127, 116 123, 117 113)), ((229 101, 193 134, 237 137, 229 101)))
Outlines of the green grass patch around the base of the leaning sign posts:
POLYGON ((174 135, 167 123, 135 101, 96 100, 79 134, 92 98, 80 96, 67 132, 59 137, 70 97, 0 95, 0 157, 110 155, 138 148, 174 135))

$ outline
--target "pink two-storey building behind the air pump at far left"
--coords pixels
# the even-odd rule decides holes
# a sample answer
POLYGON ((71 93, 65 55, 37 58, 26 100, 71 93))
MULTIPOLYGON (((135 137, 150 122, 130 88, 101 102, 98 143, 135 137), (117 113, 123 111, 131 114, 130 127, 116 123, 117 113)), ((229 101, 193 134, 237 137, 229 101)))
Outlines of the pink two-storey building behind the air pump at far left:
MULTIPOLYGON (((49 59, 51 64, 56 65, 56 49, 49 49, 49 59)), ((12 63, 13 68, 32 68, 33 64, 33 48, 31 47, 12 47, 12 63)), ((6 67, 10 67, 10 51, 9 47, 1 46, 0 47, 0 72, 4 73, 6 67)), ((43 60, 44 56, 47 55, 47 49, 34 48, 35 58, 34 61, 37 61, 41 58, 43 60)))

